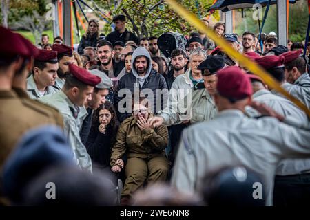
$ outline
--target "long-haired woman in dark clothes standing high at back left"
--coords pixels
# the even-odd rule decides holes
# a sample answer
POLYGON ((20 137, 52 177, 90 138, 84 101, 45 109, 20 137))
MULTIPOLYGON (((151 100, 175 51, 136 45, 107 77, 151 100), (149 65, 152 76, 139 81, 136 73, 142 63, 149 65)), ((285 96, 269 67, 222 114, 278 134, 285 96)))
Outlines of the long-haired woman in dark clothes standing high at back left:
POLYGON ((78 52, 79 54, 84 54, 85 47, 94 47, 97 46, 97 41, 99 38, 99 21, 91 19, 88 21, 88 29, 86 33, 82 36, 79 43, 78 52))

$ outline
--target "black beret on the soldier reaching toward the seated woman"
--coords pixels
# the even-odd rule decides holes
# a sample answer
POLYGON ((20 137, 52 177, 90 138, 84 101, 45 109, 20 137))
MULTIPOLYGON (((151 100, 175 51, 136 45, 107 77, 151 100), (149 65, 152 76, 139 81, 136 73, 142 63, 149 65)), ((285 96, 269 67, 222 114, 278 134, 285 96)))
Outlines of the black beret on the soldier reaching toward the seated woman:
POLYGON ((218 70, 223 69, 225 67, 225 58, 223 56, 208 56, 207 59, 205 59, 205 61, 203 61, 202 63, 200 63, 200 65, 198 65, 197 69, 201 69, 201 70, 209 70, 209 72, 204 73, 203 75, 205 76, 209 76, 212 74, 216 74, 216 72, 218 72, 218 70))

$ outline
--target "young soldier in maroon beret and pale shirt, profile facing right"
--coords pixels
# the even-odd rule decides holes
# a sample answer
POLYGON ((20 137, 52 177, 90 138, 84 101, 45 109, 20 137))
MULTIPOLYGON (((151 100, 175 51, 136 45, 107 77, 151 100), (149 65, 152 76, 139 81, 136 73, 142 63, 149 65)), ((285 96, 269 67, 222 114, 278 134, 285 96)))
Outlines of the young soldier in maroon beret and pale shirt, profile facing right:
POLYGON ((69 71, 63 89, 43 96, 39 101, 59 109, 76 163, 81 168, 92 171, 92 161, 81 141, 79 131, 87 116, 84 105, 92 98, 94 86, 101 82, 101 78, 72 64, 69 65, 69 71))

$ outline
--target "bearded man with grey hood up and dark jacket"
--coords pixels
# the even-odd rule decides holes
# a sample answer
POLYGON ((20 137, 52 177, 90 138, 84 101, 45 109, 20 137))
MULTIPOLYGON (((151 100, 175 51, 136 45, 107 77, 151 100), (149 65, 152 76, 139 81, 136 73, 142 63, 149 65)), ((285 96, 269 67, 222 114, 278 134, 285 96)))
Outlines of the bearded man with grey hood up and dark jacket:
POLYGON ((132 114, 132 94, 143 93, 149 100, 153 113, 164 108, 168 89, 165 78, 152 69, 151 56, 144 47, 138 47, 132 54, 132 70, 121 78, 114 96, 118 120, 123 122, 132 114))

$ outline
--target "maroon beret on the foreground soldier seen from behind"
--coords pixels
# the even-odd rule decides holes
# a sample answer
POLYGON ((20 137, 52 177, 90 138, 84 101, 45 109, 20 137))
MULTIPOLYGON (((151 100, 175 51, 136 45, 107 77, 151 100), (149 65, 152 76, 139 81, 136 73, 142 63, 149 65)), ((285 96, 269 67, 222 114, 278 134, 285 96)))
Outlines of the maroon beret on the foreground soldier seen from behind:
POLYGON ((240 100, 252 95, 249 77, 239 67, 226 67, 221 69, 217 75, 216 88, 221 96, 240 100))

